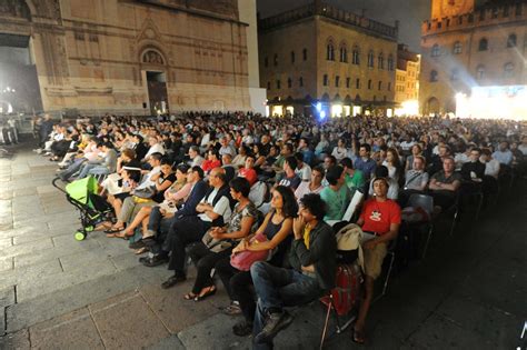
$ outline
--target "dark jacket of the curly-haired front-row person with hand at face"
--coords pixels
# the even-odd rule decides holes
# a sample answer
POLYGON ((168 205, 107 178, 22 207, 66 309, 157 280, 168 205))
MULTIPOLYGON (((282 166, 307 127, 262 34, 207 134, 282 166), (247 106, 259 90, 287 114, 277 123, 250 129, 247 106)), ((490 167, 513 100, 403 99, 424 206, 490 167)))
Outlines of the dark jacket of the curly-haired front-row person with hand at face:
POLYGON ((304 238, 292 241, 289 262, 297 271, 301 271, 301 267, 314 264, 320 289, 329 290, 335 287, 336 257, 337 240, 334 230, 325 221, 319 221, 309 232, 309 249, 304 238))

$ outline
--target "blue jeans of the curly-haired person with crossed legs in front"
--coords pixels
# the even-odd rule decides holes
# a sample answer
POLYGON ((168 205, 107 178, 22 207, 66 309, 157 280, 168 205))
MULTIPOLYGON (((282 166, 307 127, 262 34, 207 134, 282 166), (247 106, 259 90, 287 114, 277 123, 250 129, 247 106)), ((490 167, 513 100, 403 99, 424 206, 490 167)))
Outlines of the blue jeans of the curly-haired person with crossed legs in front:
MULTIPOLYGON (((256 262, 250 269, 258 296, 252 336, 264 329, 267 310, 300 306, 319 298, 322 290, 318 280, 292 269, 284 269, 267 262, 256 262)), ((269 343, 255 343, 253 349, 272 349, 269 343)))

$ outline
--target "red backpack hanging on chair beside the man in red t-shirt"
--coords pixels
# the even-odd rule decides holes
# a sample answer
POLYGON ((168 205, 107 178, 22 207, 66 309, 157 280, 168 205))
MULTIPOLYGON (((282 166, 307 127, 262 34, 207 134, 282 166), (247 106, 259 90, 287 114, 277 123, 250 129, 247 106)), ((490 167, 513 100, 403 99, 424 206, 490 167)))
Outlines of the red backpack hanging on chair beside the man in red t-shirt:
MULTIPOLYGON (((357 263, 339 264, 337 268, 336 287, 331 289, 335 311, 338 316, 348 314, 361 297, 362 272, 357 263)), ((329 297, 320 301, 328 306, 329 297)))

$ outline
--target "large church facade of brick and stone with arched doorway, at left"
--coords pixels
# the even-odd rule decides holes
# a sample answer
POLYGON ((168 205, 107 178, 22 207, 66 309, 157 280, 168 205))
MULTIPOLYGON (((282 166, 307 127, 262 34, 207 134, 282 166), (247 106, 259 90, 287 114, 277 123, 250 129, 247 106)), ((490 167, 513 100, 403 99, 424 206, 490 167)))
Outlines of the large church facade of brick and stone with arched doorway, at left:
POLYGON ((264 111, 256 40, 256 0, 0 0, 0 108, 264 111))

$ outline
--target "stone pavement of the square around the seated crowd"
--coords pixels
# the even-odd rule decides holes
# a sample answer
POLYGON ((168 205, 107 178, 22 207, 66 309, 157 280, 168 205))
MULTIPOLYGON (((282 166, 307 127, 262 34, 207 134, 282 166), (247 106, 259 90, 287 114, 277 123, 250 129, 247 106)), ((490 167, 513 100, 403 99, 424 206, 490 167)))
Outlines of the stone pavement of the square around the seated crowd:
MULTIPOLYGON (((185 301, 192 268, 186 283, 162 290, 166 268, 140 266, 122 240, 76 241, 78 213, 50 184, 56 167, 27 148, 0 159, 0 349, 250 348, 231 333, 238 319, 219 312, 228 302, 221 283, 213 298, 185 301)), ((374 304, 366 347, 349 331, 326 347, 526 347, 526 188, 518 180, 479 222, 465 213, 453 238, 437 227, 426 260, 400 271, 374 304)), ((324 309, 292 312, 277 349, 318 348, 324 309)))

